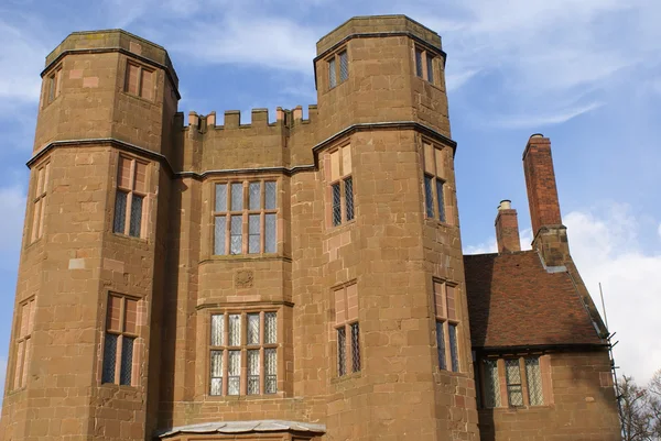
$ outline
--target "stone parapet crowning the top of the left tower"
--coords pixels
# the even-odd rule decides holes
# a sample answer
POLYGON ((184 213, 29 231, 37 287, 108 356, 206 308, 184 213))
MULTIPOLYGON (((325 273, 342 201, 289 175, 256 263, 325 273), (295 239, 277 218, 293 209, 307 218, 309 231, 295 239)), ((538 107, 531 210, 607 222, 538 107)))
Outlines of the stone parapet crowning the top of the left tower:
POLYGON ((167 55, 167 51, 163 46, 121 29, 71 33, 46 56, 46 64, 42 76, 48 70, 51 65, 66 54, 106 52, 130 54, 145 63, 163 68, 172 78, 174 88, 178 88, 178 77, 176 76, 170 55, 167 55))

